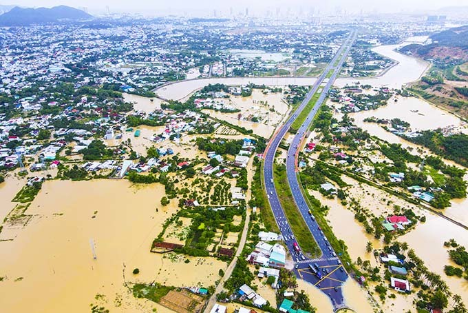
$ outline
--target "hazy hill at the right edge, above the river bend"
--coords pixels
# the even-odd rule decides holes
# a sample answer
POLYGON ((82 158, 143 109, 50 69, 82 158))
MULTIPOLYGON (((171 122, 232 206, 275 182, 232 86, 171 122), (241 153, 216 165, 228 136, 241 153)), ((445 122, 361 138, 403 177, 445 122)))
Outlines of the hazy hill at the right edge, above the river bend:
POLYGON ((430 45, 411 44, 401 48, 401 52, 412 52, 425 59, 445 59, 468 61, 468 26, 450 28, 432 34, 430 45))

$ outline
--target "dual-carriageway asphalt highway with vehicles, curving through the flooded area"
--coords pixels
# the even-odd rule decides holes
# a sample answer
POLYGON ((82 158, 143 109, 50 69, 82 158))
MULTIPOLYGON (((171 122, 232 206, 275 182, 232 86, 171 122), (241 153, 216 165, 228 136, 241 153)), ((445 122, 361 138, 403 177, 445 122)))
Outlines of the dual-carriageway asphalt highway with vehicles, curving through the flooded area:
MULTIPOLYGON (((324 236, 323 232, 321 232, 319 225, 317 225, 315 222, 315 218, 313 215, 308 213, 309 208, 306 203, 306 199, 301 192, 301 188, 299 187, 299 181, 297 180, 297 154, 299 153, 301 141, 304 139, 306 132, 310 127, 310 123, 312 123, 315 114, 317 114, 321 104, 323 101, 325 101, 327 93, 332 87, 334 80, 337 78, 343 62, 345 61, 346 57, 348 57, 348 53, 352 43, 354 42, 354 39, 356 39, 356 32, 353 31, 345 40, 345 43, 343 43, 341 48, 339 48, 337 54, 334 55, 332 61, 328 63, 327 68, 323 70, 315 84, 312 85, 310 92, 308 92, 304 101, 302 101, 301 105, 299 105, 299 108, 297 108, 297 110, 291 115, 291 117, 289 117, 286 123, 284 123, 284 125, 279 128, 279 130, 273 135, 272 139, 270 139, 264 154, 263 174, 266 193, 268 194, 268 201, 270 202, 270 207, 273 210, 273 214, 275 215, 275 220, 279 226, 281 235, 284 238, 292 259, 295 261, 295 273, 300 279, 304 279, 305 281, 312 283, 322 292, 327 294, 330 298, 330 301, 332 301, 334 310, 345 307, 341 286, 346 281, 346 279, 348 279, 348 274, 344 270, 344 267, 341 266, 341 261, 337 257, 337 252, 334 252, 334 250, 330 247, 328 239, 326 239, 326 236, 324 236), (337 63, 336 66, 335 63, 337 63), (333 73, 330 79, 326 81, 326 76, 330 70, 333 70, 333 73), (323 84, 325 85, 323 86, 323 84), (319 98, 317 99, 315 106, 312 108, 312 110, 310 110, 308 117, 306 117, 306 121, 301 125, 299 130, 297 130, 297 134, 292 139, 286 158, 286 174, 292 196, 295 199, 297 208, 299 208, 299 212, 301 212, 304 221, 306 221, 306 224, 308 225, 310 234, 314 237, 321 250, 321 256, 318 259, 310 259, 302 252, 300 246, 295 246, 297 245, 295 236, 292 234, 290 225, 288 225, 284 210, 281 208, 281 204, 279 202, 275 184, 273 183, 273 163, 275 161, 275 154, 279 144, 281 143, 281 140, 284 138, 295 119, 297 119, 299 113, 304 110, 310 99, 312 99, 312 96, 317 91, 321 92, 319 98), (315 274, 313 272, 314 270, 310 268, 310 265, 315 267, 315 270, 318 270, 320 274, 315 274)), ((287 188, 286 186, 282 187, 287 188)))

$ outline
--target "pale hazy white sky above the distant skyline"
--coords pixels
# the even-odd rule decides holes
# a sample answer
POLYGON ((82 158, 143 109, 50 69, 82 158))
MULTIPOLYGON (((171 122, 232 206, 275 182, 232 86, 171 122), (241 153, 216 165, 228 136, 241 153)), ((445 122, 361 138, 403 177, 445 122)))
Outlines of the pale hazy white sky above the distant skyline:
MULTIPOLYGON (((19 6, 39 7, 39 6, 74 6, 86 7, 89 12, 102 12, 109 6, 111 12, 198 12, 206 10, 213 12, 218 10, 222 14, 223 10, 228 11, 233 8, 233 12, 244 11, 249 8, 249 12, 255 14, 261 10, 291 10, 301 8, 302 10, 315 10, 334 12, 338 8, 348 12, 365 12, 376 10, 378 12, 401 12, 416 11, 420 8, 425 10, 436 10, 446 6, 467 6, 468 0, 11 0, 10 3, 0 1, 0 4, 16 4, 19 6)), ((275 11, 276 12, 276 11, 275 11)))

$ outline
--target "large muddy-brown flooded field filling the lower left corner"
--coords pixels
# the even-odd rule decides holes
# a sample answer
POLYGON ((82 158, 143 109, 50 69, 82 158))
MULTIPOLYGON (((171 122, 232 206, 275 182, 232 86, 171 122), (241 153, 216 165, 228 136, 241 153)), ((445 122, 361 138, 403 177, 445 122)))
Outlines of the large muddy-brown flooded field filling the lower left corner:
POLYGON ((134 187, 127 181, 44 183, 26 212, 34 215, 30 223, 2 232, 15 237, 0 242, 3 312, 89 312, 96 294, 111 312, 164 312, 134 299, 124 283, 213 285, 226 263, 149 252, 176 210, 175 203, 158 208, 163 194, 162 185, 134 187), (138 276, 131 273, 136 267, 138 276))

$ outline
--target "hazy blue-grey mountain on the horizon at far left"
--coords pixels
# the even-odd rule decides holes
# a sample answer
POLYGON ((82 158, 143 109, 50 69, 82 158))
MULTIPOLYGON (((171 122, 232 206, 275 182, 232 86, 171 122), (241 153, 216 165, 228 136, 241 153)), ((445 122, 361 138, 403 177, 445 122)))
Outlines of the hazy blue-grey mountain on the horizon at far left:
POLYGON ((92 18, 92 15, 69 6, 56 6, 50 9, 15 7, 0 15, 0 26, 28 26, 60 21, 81 21, 92 18))

